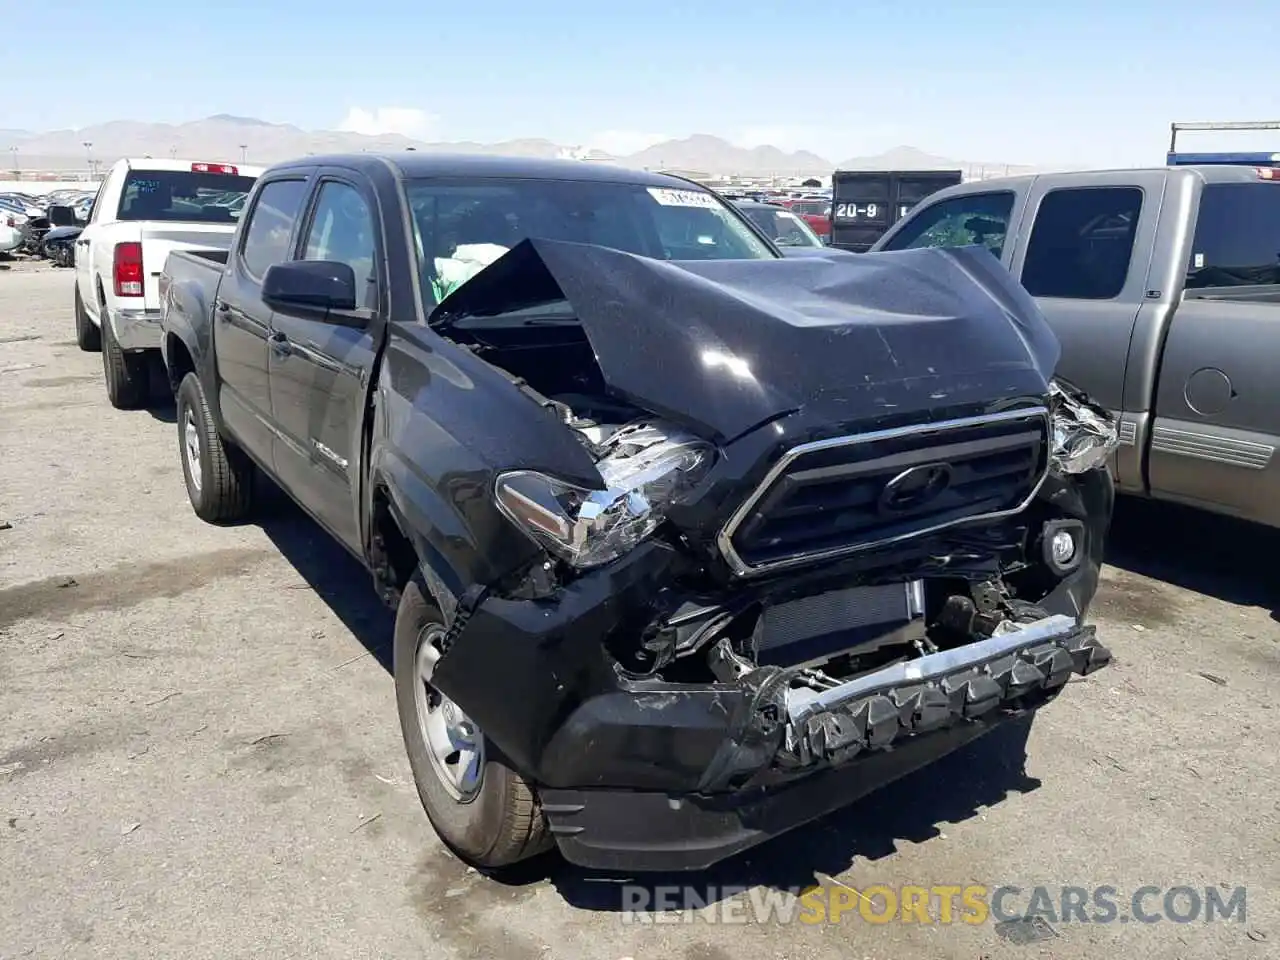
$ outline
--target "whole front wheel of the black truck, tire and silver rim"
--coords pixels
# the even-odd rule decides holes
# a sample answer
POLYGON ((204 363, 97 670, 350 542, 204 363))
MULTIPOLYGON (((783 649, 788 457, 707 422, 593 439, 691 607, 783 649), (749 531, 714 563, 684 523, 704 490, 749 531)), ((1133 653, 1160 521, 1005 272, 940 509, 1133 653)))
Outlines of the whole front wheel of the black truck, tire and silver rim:
POLYGON ((550 847, 534 788, 484 732, 431 685, 444 617, 417 580, 396 612, 396 705, 417 795, 440 840, 477 868, 509 867, 550 847))

